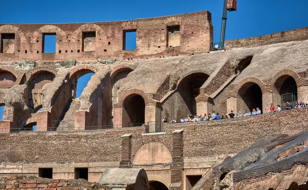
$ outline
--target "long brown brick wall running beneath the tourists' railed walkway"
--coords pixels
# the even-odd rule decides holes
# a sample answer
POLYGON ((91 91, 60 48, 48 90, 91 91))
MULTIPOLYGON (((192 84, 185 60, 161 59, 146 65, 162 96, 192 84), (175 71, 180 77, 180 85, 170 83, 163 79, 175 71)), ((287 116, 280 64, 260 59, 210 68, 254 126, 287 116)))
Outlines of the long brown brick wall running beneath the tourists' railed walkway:
POLYGON ((237 154, 259 139, 305 130, 307 114, 308 108, 301 108, 255 117, 165 124, 162 135, 142 135, 143 127, 1 134, 0 162, 119 162, 124 134, 132 134, 133 160, 138 149, 149 142, 163 143, 171 151, 172 131, 177 129, 184 129, 183 157, 237 154))

